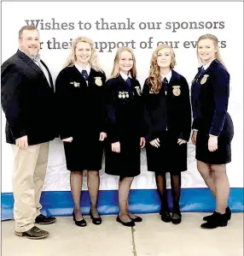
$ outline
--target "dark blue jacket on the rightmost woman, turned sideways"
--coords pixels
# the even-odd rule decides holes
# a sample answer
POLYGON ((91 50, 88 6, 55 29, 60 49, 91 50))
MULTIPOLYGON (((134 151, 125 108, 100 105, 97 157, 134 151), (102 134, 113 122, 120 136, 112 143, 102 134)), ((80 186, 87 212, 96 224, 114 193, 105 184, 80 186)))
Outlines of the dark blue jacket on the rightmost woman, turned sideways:
POLYGON ((203 73, 201 68, 191 86, 193 128, 216 136, 229 134, 229 73, 216 60, 203 73))

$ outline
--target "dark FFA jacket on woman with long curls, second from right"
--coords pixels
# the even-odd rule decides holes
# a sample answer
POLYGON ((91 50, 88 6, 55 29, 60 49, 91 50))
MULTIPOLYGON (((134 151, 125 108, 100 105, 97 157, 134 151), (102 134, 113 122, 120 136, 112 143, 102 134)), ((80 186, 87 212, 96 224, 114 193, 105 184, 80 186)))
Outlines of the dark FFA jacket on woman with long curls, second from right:
POLYGON ((181 74, 173 69, 171 72, 167 94, 163 86, 159 93, 152 92, 149 80, 145 80, 142 94, 145 102, 148 141, 159 138, 166 128, 178 139, 189 140, 191 131, 189 85, 181 74), (178 93, 179 95, 177 95, 178 93))

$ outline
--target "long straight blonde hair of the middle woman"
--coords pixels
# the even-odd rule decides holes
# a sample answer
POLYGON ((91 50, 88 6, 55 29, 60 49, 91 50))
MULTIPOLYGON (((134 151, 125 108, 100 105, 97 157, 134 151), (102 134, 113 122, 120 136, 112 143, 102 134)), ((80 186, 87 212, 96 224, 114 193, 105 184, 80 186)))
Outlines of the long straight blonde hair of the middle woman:
POLYGON ((136 58, 132 49, 127 46, 119 47, 118 51, 116 52, 116 55, 113 61, 113 70, 111 72, 110 78, 114 78, 119 75, 119 59, 123 51, 129 51, 132 55, 133 67, 131 68, 130 73, 131 73, 131 77, 136 78, 137 77, 136 58))

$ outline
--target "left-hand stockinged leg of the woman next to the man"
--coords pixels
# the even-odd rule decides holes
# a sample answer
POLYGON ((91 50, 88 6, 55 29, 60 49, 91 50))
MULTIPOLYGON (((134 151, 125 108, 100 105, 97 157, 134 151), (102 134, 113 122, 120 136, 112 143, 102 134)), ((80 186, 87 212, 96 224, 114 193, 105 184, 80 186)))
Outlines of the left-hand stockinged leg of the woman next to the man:
POLYGON ((74 202, 74 214, 77 221, 82 220, 83 216, 80 211, 80 193, 82 190, 83 173, 82 171, 70 172, 70 187, 74 202))

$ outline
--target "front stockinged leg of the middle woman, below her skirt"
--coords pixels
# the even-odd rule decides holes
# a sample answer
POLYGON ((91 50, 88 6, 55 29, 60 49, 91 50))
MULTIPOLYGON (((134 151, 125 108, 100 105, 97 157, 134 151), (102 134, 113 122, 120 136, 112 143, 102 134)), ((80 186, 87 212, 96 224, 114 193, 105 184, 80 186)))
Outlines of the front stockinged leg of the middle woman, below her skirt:
POLYGON ((134 177, 119 178, 119 218, 125 223, 131 222, 128 216, 128 199, 133 179, 134 177))

